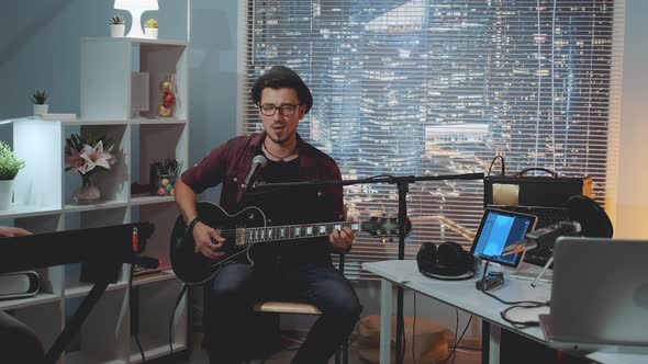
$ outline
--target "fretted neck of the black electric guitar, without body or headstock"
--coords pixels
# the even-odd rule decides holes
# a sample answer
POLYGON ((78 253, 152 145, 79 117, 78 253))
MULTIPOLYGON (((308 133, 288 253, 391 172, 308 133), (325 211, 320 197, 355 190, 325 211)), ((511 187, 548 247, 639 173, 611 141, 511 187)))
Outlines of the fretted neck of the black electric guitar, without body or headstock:
MULTIPOLYGON (((338 221, 325 224, 305 224, 305 225, 284 225, 284 226, 266 226, 258 228, 236 229, 236 235, 245 234, 245 243, 278 241, 289 239, 303 239, 329 236, 334 230, 342 230, 348 227, 354 231, 361 230, 361 224, 357 221, 338 221), (242 231, 244 230, 244 231, 242 231)), ((241 240, 237 239, 239 242, 241 240)))

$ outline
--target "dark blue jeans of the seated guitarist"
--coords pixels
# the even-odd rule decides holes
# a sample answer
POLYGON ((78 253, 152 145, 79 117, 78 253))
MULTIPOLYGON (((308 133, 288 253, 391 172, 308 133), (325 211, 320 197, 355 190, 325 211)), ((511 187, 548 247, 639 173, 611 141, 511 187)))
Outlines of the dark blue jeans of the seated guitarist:
POLYGON ((224 265, 205 289, 205 344, 210 363, 245 359, 248 325, 256 303, 304 302, 322 315, 292 363, 327 363, 353 331, 362 306, 346 277, 335 268, 302 264, 254 270, 243 263, 224 265))

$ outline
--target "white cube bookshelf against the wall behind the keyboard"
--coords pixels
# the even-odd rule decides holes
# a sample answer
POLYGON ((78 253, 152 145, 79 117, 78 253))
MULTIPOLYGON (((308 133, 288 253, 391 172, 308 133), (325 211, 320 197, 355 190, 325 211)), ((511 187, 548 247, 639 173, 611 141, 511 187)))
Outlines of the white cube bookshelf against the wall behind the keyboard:
MULTIPOLYGON (((81 113, 77 120, 13 120, 13 148, 25 168, 16 177, 14 203, 0 211, 0 219, 33 232, 63 231, 118 224, 150 221, 155 226, 145 254, 160 261, 160 272, 133 280, 138 296, 138 334, 146 360, 170 353, 169 320, 181 282, 169 269, 170 231, 178 216, 172 196, 135 194, 132 183, 149 183, 148 168, 166 158, 189 162, 189 61, 187 42, 82 38, 81 113), (132 72, 149 73, 149 110, 157 113, 163 94, 158 84, 176 76, 175 117, 133 117, 132 72), (81 178, 65 171, 64 148, 72 133, 115 140, 118 164, 97 174, 104 194, 97 204, 78 205, 72 191, 81 178)), ((56 243, 55 241, 53 243, 56 243)), ((41 292, 33 297, 0 300, 0 310, 19 318, 48 349, 69 316, 91 288, 79 280, 81 264, 38 269, 41 292)), ((80 335, 62 355, 62 363, 138 363, 133 344, 129 303, 130 266, 109 285, 80 329, 80 335)), ((172 317, 174 351, 187 349, 188 300, 183 297, 172 317)))

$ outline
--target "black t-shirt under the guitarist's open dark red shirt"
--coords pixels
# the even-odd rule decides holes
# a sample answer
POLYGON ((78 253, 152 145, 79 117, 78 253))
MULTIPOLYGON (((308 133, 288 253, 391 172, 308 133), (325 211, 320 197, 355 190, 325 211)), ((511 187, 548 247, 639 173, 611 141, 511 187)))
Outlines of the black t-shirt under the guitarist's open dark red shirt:
MULTIPOLYGON (((291 161, 271 161, 259 172, 257 181, 266 183, 301 182, 299 158, 291 161)), ((266 215, 267 226, 329 223, 320 202, 320 189, 286 186, 250 190, 239 206, 256 206, 266 215)), ((261 242, 253 247, 253 259, 259 266, 283 266, 302 263, 329 263, 328 237, 294 239, 282 242, 261 242)))

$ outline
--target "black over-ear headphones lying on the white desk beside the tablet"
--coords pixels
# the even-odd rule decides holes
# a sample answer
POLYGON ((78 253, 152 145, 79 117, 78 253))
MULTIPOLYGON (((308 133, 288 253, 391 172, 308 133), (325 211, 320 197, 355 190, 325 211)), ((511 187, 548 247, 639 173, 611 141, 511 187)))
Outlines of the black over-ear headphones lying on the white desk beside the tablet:
POLYGON ((416 262, 421 273, 437 280, 459 281, 474 276, 474 257, 455 241, 446 241, 438 247, 424 242, 416 254, 416 262))

